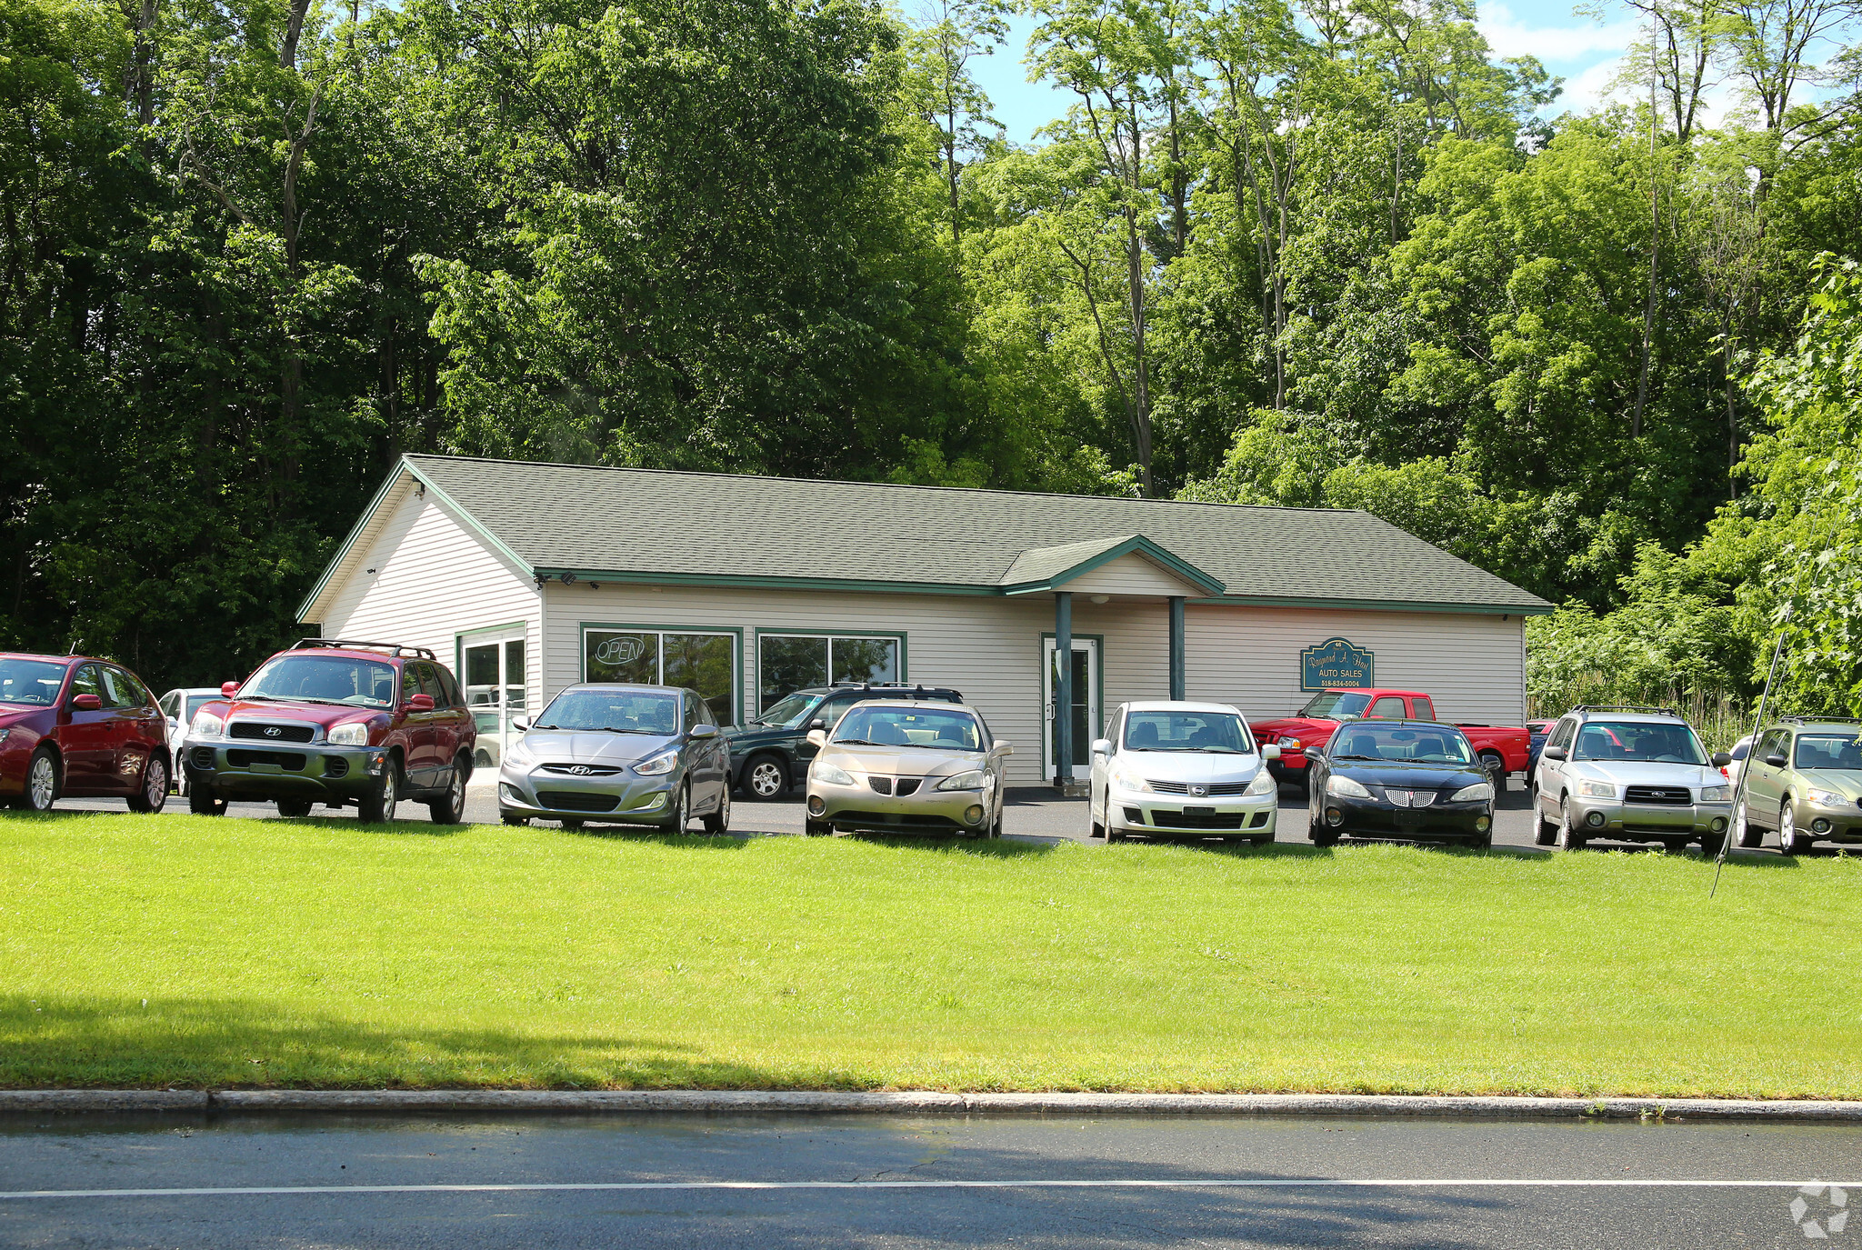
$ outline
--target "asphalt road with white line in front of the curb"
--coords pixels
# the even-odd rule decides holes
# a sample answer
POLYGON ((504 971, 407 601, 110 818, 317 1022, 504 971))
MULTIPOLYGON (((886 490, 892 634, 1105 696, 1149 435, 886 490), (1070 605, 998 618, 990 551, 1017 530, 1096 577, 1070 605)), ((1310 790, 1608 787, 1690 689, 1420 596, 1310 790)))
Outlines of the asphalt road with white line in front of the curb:
POLYGON ((1274 1118, 0 1121, 7 1246, 1862 1244, 1828 1125, 1274 1118), (384 1192, 374 1187, 402 1187, 384 1192), (225 1190, 263 1192, 225 1192, 225 1190), (192 1190, 192 1192, 186 1192, 192 1190), (1793 1200, 1804 1205, 1793 1209, 1793 1200))

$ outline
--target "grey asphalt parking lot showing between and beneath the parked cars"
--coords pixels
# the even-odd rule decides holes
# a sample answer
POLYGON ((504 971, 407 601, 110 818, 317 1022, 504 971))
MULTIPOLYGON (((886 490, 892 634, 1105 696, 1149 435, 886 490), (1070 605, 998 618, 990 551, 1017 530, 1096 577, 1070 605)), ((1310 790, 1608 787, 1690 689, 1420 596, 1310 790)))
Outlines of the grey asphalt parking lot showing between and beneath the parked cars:
MULTIPOLYGON (((102 812, 121 812, 125 805, 119 799, 61 799, 60 807, 65 810, 102 810, 102 812)), ((169 797, 166 812, 186 812, 188 805, 184 799, 169 797)), ((326 808, 317 808, 322 816, 326 808)), ((259 816, 276 818, 277 808, 270 803, 235 803, 231 805, 235 816, 259 816)), ((419 803, 402 803, 404 820, 425 820, 426 808, 419 803)), ((335 816, 335 812, 330 812, 335 816)), ((354 816, 354 808, 348 812, 354 816)), ((493 786, 479 782, 466 792, 466 820, 479 823, 497 823, 497 792, 493 786)), ((737 836, 801 836, 803 833, 803 805, 801 799, 789 799, 782 803, 754 803, 741 795, 732 807, 732 833, 737 836)), ((1089 842, 1093 846, 1104 846, 1102 842, 1091 842, 1086 829, 1086 801, 1084 799, 1063 799, 1050 788, 1019 788, 1009 792, 1009 807, 1004 814, 1002 829, 1004 836, 1011 838, 1033 838, 1043 842, 1073 840, 1089 842)), ((1769 835, 1767 835, 1769 836, 1769 835)), ((1281 786, 1281 810, 1279 810, 1279 842, 1292 842, 1296 846, 1309 846, 1305 836, 1305 799, 1298 797, 1292 788, 1281 786)), ((1534 846, 1532 842, 1532 812, 1531 801, 1525 794, 1523 782, 1514 777, 1506 782, 1506 794, 1501 795, 1501 807, 1493 822, 1493 844, 1503 848, 1512 848, 1518 851, 1529 851, 1534 855, 1549 855, 1547 848, 1534 846)), ((1346 842, 1350 846, 1350 842, 1346 842)), ((1609 842, 1592 842, 1598 849, 1611 849, 1609 842)), ((1618 849, 1640 849, 1659 853, 1659 848, 1648 848, 1642 844, 1624 844, 1618 849)), ((1693 851, 1693 853, 1698 853, 1693 851)), ((1769 846, 1761 851, 1734 851, 1734 855, 1776 855, 1776 846, 1769 846)), ((1832 848, 1819 848, 1812 853, 1834 855, 1832 848)))

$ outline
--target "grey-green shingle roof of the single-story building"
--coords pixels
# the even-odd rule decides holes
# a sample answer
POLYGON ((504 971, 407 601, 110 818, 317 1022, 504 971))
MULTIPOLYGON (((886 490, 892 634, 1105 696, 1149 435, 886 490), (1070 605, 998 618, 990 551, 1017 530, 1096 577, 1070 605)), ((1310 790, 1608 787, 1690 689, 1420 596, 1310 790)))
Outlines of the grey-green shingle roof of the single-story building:
POLYGON ((540 574, 1000 594, 1145 538, 1205 585, 1220 583, 1223 600, 1551 611, 1467 561, 1344 509, 466 456, 410 455, 404 464, 540 574))

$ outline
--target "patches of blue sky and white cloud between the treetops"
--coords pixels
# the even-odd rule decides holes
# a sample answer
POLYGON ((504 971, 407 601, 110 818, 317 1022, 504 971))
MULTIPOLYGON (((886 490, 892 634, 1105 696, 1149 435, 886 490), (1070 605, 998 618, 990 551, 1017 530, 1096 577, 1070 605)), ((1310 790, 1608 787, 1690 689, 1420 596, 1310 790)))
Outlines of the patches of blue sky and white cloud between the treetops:
MULTIPOLYGON (((1564 95, 1547 112, 1581 114, 1607 95, 1616 63, 1635 41, 1633 11, 1618 7, 1616 13, 1598 22, 1577 17, 1570 0, 1512 0, 1482 4, 1478 24, 1495 56, 1536 56, 1551 75, 1564 78, 1564 95)), ((1007 43, 970 61, 970 73, 996 106, 996 121, 1017 143, 1026 143, 1035 127, 1059 117, 1073 102, 1050 82, 1028 82, 1022 50, 1033 28, 1032 17, 1017 15, 1007 43)))

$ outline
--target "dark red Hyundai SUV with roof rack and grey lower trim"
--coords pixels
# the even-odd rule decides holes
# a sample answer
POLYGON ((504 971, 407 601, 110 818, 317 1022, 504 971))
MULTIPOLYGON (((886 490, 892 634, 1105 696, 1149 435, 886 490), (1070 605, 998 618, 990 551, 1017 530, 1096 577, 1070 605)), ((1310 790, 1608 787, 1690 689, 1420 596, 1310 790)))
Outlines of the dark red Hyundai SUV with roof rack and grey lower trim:
POLYGON ((434 822, 466 812, 479 728, 452 673, 425 646, 304 639, 194 713, 182 745, 188 807, 276 801, 281 816, 354 805, 395 820, 400 799, 434 822))

